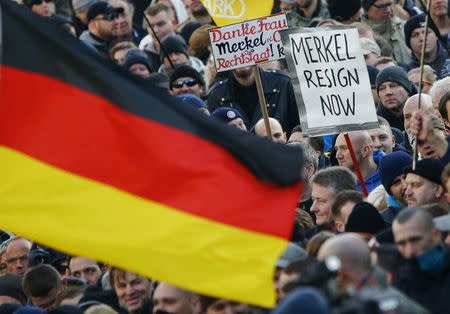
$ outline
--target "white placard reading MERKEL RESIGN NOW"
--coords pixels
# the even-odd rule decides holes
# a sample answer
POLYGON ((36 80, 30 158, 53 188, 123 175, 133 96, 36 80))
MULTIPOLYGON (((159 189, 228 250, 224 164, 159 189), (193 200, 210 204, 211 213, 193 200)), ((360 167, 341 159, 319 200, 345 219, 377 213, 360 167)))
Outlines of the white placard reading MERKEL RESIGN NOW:
POLYGON ((378 128, 356 28, 295 28, 281 36, 305 135, 378 128))

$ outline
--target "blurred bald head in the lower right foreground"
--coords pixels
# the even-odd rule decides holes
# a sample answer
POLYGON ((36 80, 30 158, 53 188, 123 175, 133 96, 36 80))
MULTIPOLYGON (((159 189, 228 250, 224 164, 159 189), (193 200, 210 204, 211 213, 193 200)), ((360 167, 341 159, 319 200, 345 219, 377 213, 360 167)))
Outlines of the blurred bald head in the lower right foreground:
POLYGON ((330 256, 341 260, 341 270, 355 282, 372 269, 367 243, 356 234, 342 233, 325 241, 317 258, 324 260, 330 256))

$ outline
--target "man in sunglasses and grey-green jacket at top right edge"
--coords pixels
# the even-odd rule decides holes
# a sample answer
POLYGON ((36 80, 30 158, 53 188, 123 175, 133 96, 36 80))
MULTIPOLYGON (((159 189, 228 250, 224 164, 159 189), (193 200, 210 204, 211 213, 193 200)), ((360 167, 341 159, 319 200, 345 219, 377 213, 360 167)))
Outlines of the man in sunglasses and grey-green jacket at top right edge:
POLYGON ((411 50, 406 46, 403 27, 405 21, 395 16, 395 0, 362 0, 365 14, 363 23, 369 25, 375 34, 386 39, 392 47, 392 57, 397 62, 409 63, 411 50))

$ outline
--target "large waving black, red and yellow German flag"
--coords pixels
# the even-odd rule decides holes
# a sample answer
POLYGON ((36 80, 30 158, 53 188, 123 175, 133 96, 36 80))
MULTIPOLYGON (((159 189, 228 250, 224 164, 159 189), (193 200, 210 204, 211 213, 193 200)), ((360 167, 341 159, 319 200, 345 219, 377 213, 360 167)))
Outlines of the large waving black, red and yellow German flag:
POLYGON ((300 152, 158 94, 25 7, 0 8, 0 228, 273 305, 300 152))

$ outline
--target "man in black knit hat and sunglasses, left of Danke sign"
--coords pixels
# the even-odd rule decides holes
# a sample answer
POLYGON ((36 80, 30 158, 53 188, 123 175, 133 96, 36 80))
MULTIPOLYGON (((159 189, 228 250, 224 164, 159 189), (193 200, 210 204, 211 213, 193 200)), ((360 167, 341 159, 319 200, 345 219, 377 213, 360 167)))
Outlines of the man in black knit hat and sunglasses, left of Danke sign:
POLYGON ((201 97, 204 86, 202 76, 188 65, 177 68, 170 77, 170 92, 174 96, 192 94, 201 97))

